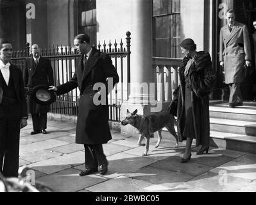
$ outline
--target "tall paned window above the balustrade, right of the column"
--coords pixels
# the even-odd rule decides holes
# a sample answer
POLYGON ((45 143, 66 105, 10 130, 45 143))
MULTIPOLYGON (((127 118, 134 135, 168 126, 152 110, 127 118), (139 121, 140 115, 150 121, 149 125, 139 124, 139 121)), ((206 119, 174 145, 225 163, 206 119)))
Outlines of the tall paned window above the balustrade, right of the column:
POLYGON ((153 0, 153 56, 180 58, 180 0, 153 0))

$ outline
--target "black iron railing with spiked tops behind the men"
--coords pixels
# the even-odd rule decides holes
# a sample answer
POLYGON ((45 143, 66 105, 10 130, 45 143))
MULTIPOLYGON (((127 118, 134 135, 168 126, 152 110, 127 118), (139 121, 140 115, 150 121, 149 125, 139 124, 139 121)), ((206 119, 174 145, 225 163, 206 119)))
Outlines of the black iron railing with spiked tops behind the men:
MULTIPOLYGON (((107 53, 113 61, 115 69, 119 74, 119 84, 115 86, 112 92, 108 95, 108 107, 109 107, 109 120, 120 121, 120 108, 124 100, 128 100, 128 86, 130 83, 130 35, 129 31, 126 32, 126 48, 123 47, 123 40, 117 44, 115 40, 112 47, 111 41, 109 44, 103 42, 103 47, 99 43, 98 49, 103 53, 107 53)), ((53 74, 55 85, 61 85, 73 76, 76 67, 76 61, 80 54, 77 54, 72 47, 67 45, 60 47, 53 46, 53 49, 40 49, 41 56, 48 58, 51 61, 53 67, 53 74)), ((24 69, 26 58, 31 58, 30 44, 26 44, 24 51, 14 51, 12 63, 24 69)), ((51 113, 58 113, 64 115, 77 115, 78 113, 78 99, 80 92, 78 88, 71 92, 56 97, 56 102, 51 104, 51 113)))

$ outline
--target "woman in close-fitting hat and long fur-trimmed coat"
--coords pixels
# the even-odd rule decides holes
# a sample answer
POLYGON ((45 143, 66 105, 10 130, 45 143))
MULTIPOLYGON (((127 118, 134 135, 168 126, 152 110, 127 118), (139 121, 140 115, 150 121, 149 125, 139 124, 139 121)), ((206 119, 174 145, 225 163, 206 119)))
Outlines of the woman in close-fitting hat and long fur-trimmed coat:
POLYGON ((180 142, 187 140, 182 163, 191 159, 191 144, 202 145, 198 154, 208 152, 210 142, 209 94, 215 82, 210 54, 196 51, 196 44, 187 38, 180 44, 185 54, 180 65, 177 120, 180 142))

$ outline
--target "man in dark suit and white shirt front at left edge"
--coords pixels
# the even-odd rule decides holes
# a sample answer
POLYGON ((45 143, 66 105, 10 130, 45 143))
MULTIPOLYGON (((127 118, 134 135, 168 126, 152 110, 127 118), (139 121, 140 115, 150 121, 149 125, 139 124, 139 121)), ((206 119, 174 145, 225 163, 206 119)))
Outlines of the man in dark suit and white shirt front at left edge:
POLYGON ((0 172, 17 177, 19 134, 28 113, 21 69, 10 64, 12 44, 0 38, 0 172))

